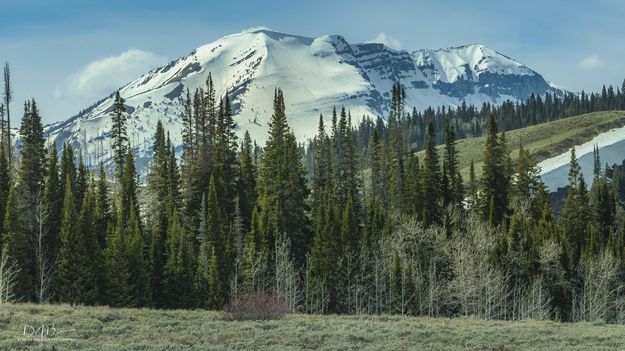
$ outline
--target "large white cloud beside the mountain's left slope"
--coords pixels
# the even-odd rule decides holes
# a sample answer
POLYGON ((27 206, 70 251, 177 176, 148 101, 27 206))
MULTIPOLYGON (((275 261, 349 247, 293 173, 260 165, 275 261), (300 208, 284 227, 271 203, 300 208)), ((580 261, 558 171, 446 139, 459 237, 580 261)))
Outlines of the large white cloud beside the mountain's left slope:
POLYGON ((167 59, 157 54, 129 49, 117 56, 98 59, 72 73, 61 86, 57 97, 99 97, 163 65, 167 59))

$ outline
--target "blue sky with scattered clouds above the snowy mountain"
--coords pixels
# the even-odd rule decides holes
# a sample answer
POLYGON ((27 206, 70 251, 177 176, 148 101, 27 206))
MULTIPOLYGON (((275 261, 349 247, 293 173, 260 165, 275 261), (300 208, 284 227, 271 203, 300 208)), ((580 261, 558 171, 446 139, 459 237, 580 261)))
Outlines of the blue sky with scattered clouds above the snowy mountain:
MULTIPOLYGON (((625 2, 0 0, 0 61, 12 110, 34 97, 63 120, 149 69, 224 35, 265 26, 416 50, 483 43, 570 90, 620 87, 625 2)), ((14 114, 14 119, 16 117, 14 114)))

